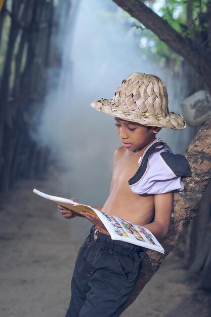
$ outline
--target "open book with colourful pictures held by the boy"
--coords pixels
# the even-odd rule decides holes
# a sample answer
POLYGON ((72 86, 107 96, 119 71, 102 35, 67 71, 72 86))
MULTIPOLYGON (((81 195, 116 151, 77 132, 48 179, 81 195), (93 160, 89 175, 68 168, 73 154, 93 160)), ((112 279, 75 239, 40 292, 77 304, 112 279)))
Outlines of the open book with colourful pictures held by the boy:
POLYGON ((45 194, 35 188, 33 192, 79 214, 80 212, 86 211, 98 216, 110 233, 112 240, 121 240, 164 254, 164 249, 159 244, 155 236, 150 232, 150 230, 143 226, 135 225, 116 216, 106 214, 105 212, 99 211, 91 206, 75 203, 70 199, 45 194))

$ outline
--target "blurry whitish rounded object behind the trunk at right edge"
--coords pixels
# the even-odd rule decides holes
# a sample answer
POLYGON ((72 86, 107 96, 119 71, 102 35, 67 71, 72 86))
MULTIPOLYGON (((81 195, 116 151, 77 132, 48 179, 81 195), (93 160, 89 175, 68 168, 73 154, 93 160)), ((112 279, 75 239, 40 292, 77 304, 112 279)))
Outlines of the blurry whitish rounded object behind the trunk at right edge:
POLYGON ((211 99, 206 90, 199 90, 181 103, 184 120, 189 126, 203 124, 211 115, 211 99))

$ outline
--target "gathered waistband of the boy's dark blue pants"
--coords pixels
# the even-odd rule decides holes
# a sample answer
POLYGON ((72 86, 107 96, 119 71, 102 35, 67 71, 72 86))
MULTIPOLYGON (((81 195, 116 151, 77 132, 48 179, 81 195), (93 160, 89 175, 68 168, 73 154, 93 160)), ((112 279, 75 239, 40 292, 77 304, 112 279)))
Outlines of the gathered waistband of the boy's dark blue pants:
POLYGON ((107 247, 110 251, 119 250, 129 253, 145 252, 144 248, 140 246, 119 240, 112 240, 110 235, 101 233, 100 231, 98 231, 97 239, 95 239, 95 226, 92 226, 90 230, 90 240, 101 246, 107 247))

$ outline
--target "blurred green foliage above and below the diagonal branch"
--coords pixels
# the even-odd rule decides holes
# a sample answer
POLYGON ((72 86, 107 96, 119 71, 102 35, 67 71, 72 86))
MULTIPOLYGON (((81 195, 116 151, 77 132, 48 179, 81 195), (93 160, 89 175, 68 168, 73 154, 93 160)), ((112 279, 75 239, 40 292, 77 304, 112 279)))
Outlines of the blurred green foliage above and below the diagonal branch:
MULTIPOLYGON (((192 39, 196 44, 199 38, 200 42, 207 40, 209 28, 207 8, 210 6, 210 0, 143 0, 143 2, 182 36, 192 39)), ((124 18, 126 18, 125 13, 124 18)), ((127 18, 129 19, 129 15, 127 18)), ((161 65, 174 60, 177 67, 180 57, 174 51, 136 19, 130 17, 129 20, 143 54, 153 58, 156 56, 161 65)))

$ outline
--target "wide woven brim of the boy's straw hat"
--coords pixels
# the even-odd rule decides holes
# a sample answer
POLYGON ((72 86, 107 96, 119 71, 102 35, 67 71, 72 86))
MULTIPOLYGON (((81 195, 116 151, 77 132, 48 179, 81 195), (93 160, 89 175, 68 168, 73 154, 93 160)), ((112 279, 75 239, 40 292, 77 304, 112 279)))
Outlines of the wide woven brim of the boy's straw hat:
POLYGON ((122 120, 132 121, 144 126, 168 128, 174 130, 183 130, 186 128, 186 123, 183 116, 169 112, 165 117, 161 115, 154 115, 150 113, 140 113, 140 111, 126 111, 119 109, 111 104, 112 100, 102 99, 95 100, 91 103, 91 106, 101 112, 108 115, 119 117, 122 120))

